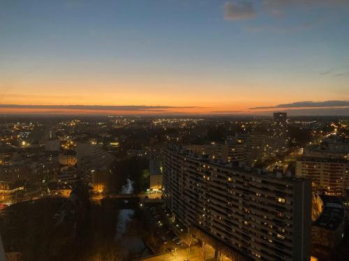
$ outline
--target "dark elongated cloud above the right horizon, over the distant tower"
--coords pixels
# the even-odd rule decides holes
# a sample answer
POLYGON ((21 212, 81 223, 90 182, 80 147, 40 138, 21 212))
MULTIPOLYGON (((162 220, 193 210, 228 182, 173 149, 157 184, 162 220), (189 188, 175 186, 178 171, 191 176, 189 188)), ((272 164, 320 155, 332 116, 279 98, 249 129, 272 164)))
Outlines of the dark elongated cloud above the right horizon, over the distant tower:
POLYGON ((292 102, 288 104, 278 104, 276 106, 262 106, 254 107, 250 109, 285 109, 285 108, 329 108, 329 107, 349 107, 349 101, 347 100, 332 100, 332 101, 323 101, 323 102, 292 102))

